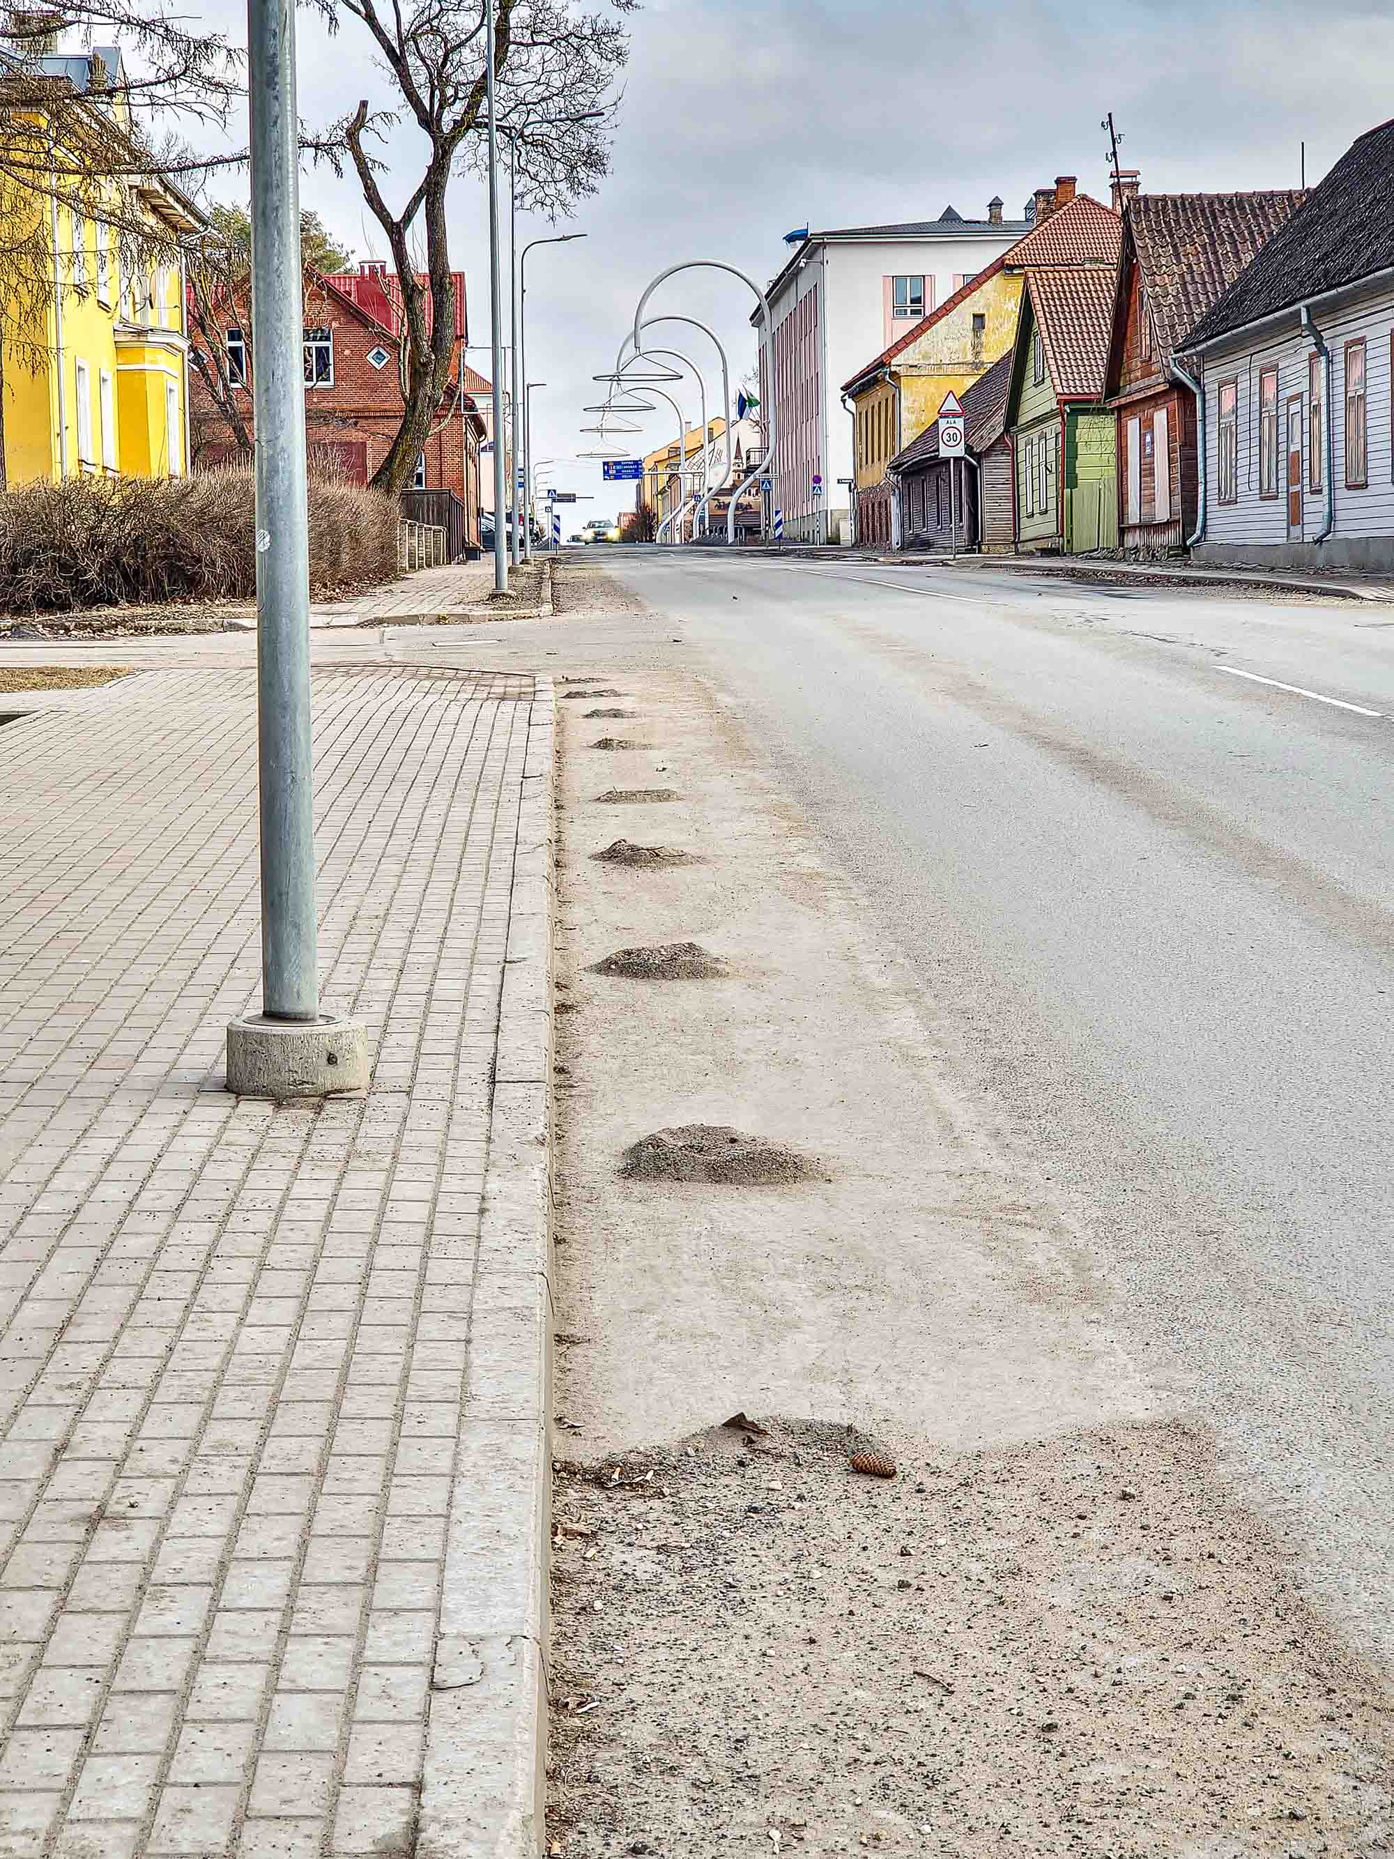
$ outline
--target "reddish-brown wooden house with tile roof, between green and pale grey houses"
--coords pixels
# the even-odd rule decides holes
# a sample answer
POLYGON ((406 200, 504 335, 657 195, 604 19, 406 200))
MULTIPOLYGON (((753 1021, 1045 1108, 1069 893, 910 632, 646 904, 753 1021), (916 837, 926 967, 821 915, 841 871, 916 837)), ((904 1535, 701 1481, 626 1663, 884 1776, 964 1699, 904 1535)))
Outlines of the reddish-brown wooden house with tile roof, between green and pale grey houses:
POLYGON ((1199 509, 1197 409, 1180 340, 1301 206, 1297 190, 1124 193, 1108 405, 1124 548, 1175 554, 1199 509))

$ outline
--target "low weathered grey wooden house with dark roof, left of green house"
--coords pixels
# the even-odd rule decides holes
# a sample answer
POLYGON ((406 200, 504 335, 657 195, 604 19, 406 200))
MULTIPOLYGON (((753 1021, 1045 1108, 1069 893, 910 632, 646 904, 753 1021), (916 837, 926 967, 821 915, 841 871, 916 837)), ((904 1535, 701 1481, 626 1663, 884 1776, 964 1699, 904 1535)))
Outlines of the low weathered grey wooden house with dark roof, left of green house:
POLYGON ((890 461, 905 548, 952 548, 955 534, 959 548, 1013 547, 1009 385, 1007 353, 963 394, 965 461, 957 467, 939 455, 937 420, 890 461), (957 485, 950 485, 950 472, 957 485))

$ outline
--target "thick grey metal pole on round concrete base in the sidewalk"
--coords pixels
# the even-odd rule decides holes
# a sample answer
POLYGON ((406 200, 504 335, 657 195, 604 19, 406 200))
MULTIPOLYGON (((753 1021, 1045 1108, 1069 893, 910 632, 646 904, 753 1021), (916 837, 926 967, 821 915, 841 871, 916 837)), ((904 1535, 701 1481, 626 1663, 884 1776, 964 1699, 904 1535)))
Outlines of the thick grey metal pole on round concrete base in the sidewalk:
POLYGON ((294 0, 247 0, 256 409, 256 749, 262 1011, 227 1030, 227 1086, 323 1097, 368 1084, 361 1024, 320 1013, 310 751, 310 537, 294 0))

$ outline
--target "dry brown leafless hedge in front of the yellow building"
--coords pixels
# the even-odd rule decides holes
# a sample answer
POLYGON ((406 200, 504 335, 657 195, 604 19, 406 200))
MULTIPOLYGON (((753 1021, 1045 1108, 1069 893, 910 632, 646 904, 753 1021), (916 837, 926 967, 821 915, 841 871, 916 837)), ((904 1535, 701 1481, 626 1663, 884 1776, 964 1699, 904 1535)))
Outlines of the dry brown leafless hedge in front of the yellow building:
MULTIPOLYGON (((256 485, 249 470, 191 478, 65 478, 0 494, 0 612, 251 600, 256 485)), ((398 573, 398 508, 381 491, 310 480, 310 593, 398 573)))

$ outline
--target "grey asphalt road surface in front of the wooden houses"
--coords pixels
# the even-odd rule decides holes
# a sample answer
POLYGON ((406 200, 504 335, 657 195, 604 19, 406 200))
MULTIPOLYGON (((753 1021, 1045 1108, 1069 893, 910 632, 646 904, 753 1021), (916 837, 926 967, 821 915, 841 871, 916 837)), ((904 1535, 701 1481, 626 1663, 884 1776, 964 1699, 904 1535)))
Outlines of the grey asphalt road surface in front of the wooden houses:
POLYGON ((1394 1660, 1394 608, 606 569, 909 957, 1139 1368, 1394 1660))

